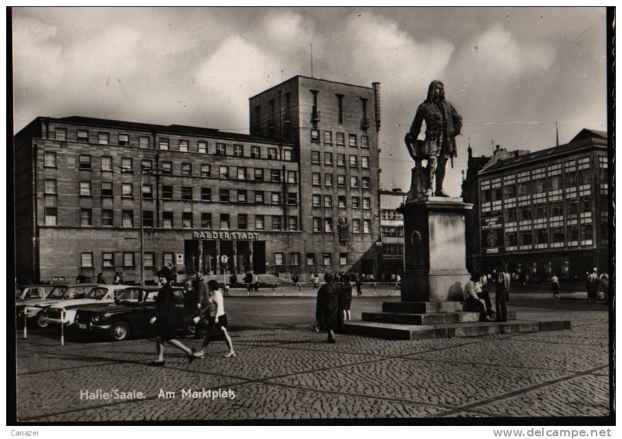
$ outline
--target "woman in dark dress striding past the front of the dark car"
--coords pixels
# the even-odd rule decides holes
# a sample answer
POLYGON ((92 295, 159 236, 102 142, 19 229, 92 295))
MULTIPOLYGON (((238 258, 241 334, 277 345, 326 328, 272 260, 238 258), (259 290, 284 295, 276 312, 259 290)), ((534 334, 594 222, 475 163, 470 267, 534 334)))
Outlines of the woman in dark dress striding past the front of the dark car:
POLYGON ((149 321, 155 332, 157 358, 150 365, 164 365, 164 341, 184 351, 188 357, 188 363, 192 363, 192 360, 196 358, 195 353, 181 341, 175 339, 175 295, 173 294, 173 287, 170 286, 168 277, 164 272, 159 271, 157 277, 162 288, 155 297, 155 313, 149 321))

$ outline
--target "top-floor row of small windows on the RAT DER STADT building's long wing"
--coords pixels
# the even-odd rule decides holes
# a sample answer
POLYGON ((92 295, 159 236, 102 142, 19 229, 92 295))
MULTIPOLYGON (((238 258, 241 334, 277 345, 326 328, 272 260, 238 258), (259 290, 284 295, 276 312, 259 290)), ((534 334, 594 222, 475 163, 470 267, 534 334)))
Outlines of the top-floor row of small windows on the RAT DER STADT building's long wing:
MULTIPOLYGON (((106 131, 98 131, 96 133, 96 139, 100 145, 111 144, 110 133, 106 131)), ((54 138, 56 140, 67 140, 67 129, 56 128, 54 130, 54 138)), ((89 143, 89 131, 77 130, 76 139, 78 142, 89 143)), ((93 137, 93 140, 95 138, 93 137)), ((95 143, 95 142, 93 142, 95 143)), ((119 133, 117 135, 117 145, 130 146, 130 136, 126 133, 119 133)), ((287 148, 282 149, 276 147, 261 147, 261 146, 245 146, 240 144, 224 144, 221 142, 208 142, 206 140, 199 140, 190 142, 188 139, 170 139, 169 137, 157 137, 157 149, 159 150, 177 150, 181 153, 200 153, 200 154, 214 154, 214 155, 229 155, 232 157, 251 157, 253 159, 269 159, 269 160, 293 160, 293 151, 287 148), (175 142, 177 142, 175 144, 175 142), (212 148, 213 146, 213 148, 212 148)), ((138 136, 138 147, 151 149, 156 145, 151 144, 151 137, 138 136)))

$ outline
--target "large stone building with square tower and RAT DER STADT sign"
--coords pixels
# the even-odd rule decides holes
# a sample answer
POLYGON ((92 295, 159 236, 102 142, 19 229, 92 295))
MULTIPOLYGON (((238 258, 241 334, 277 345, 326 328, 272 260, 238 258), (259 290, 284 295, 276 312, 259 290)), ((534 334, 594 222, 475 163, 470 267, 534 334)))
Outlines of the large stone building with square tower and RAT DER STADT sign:
POLYGON ((377 273, 377 85, 296 76, 250 115, 250 135, 37 117, 14 137, 19 280, 377 273))

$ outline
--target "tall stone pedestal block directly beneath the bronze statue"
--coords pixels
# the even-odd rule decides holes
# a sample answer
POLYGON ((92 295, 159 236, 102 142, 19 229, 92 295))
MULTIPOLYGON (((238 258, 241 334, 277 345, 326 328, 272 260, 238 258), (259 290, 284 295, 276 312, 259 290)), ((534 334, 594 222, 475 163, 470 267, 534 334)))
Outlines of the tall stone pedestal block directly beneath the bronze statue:
POLYGON ((400 207, 404 216, 402 302, 463 300, 465 212, 461 198, 429 196, 400 207))

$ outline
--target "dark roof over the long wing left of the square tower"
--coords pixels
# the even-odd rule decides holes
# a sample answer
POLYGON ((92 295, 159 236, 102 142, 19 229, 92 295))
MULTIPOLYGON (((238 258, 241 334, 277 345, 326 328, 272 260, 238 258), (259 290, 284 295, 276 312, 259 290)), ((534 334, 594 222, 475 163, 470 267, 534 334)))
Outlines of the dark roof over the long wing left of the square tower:
MULTIPOLYGON (((41 117, 44 120, 57 120, 68 124, 102 126, 109 128, 126 128, 137 131, 157 131, 158 133, 170 133, 179 135, 196 135, 201 137, 217 137, 219 139, 232 139, 246 142, 261 142, 269 144, 278 144, 277 139, 268 139, 256 135, 248 135, 241 133, 227 133, 216 128, 201 128, 200 126, 186 125, 156 125, 143 124, 140 122, 126 122, 122 120, 98 119, 96 117, 70 116, 70 117, 41 117)), ((289 142, 281 142, 289 144, 289 142)))

